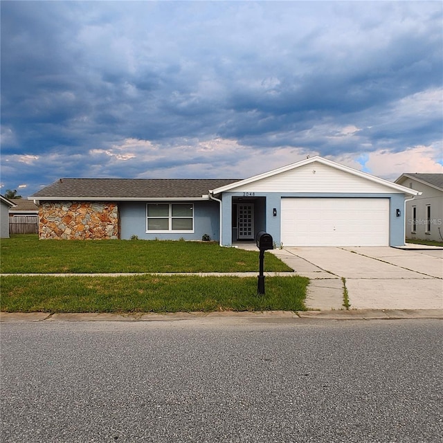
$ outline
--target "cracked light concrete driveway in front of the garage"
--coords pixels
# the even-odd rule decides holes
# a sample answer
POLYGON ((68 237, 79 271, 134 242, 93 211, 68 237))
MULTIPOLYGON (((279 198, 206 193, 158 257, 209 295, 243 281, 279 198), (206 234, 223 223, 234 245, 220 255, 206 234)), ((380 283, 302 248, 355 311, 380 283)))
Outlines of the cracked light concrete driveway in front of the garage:
POLYGON ((344 284, 350 309, 443 309, 443 249, 288 247, 272 252, 311 279, 311 309, 343 309, 344 284))

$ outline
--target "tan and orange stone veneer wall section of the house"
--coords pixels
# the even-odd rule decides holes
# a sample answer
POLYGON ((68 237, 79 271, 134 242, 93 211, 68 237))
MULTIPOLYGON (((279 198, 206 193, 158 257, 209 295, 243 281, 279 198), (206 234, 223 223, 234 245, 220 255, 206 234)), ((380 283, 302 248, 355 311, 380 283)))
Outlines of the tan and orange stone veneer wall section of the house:
POLYGON ((101 201, 44 201, 40 239, 118 239, 118 206, 101 201))

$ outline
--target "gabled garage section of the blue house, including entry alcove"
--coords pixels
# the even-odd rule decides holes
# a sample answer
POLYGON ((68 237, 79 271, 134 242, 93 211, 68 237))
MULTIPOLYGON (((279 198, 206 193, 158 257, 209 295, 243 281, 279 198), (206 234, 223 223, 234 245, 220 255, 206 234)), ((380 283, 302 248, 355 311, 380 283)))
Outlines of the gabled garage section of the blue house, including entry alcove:
POLYGON ((405 200, 417 195, 320 156, 210 190, 221 201, 223 246, 251 241, 238 235, 245 205, 254 235, 265 230, 277 246, 403 246, 405 200))

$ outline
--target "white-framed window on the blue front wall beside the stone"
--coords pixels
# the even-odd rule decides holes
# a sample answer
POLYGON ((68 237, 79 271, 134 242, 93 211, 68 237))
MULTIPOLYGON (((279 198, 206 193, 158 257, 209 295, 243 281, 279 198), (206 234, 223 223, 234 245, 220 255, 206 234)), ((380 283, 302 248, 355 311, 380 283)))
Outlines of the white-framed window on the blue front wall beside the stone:
POLYGON ((150 233, 194 230, 194 206, 192 204, 147 204, 146 230, 150 233))

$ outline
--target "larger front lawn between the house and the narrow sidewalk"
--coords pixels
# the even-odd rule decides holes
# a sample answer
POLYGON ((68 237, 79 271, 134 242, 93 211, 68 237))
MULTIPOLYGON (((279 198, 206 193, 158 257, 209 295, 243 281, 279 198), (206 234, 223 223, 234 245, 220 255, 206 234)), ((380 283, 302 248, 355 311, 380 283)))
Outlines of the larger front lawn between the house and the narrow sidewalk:
MULTIPOLYGON (((248 272, 258 270, 257 251, 214 242, 156 240, 1 239, 1 273, 248 272)), ((292 271, 266 253, 265 271, 292 271)))

